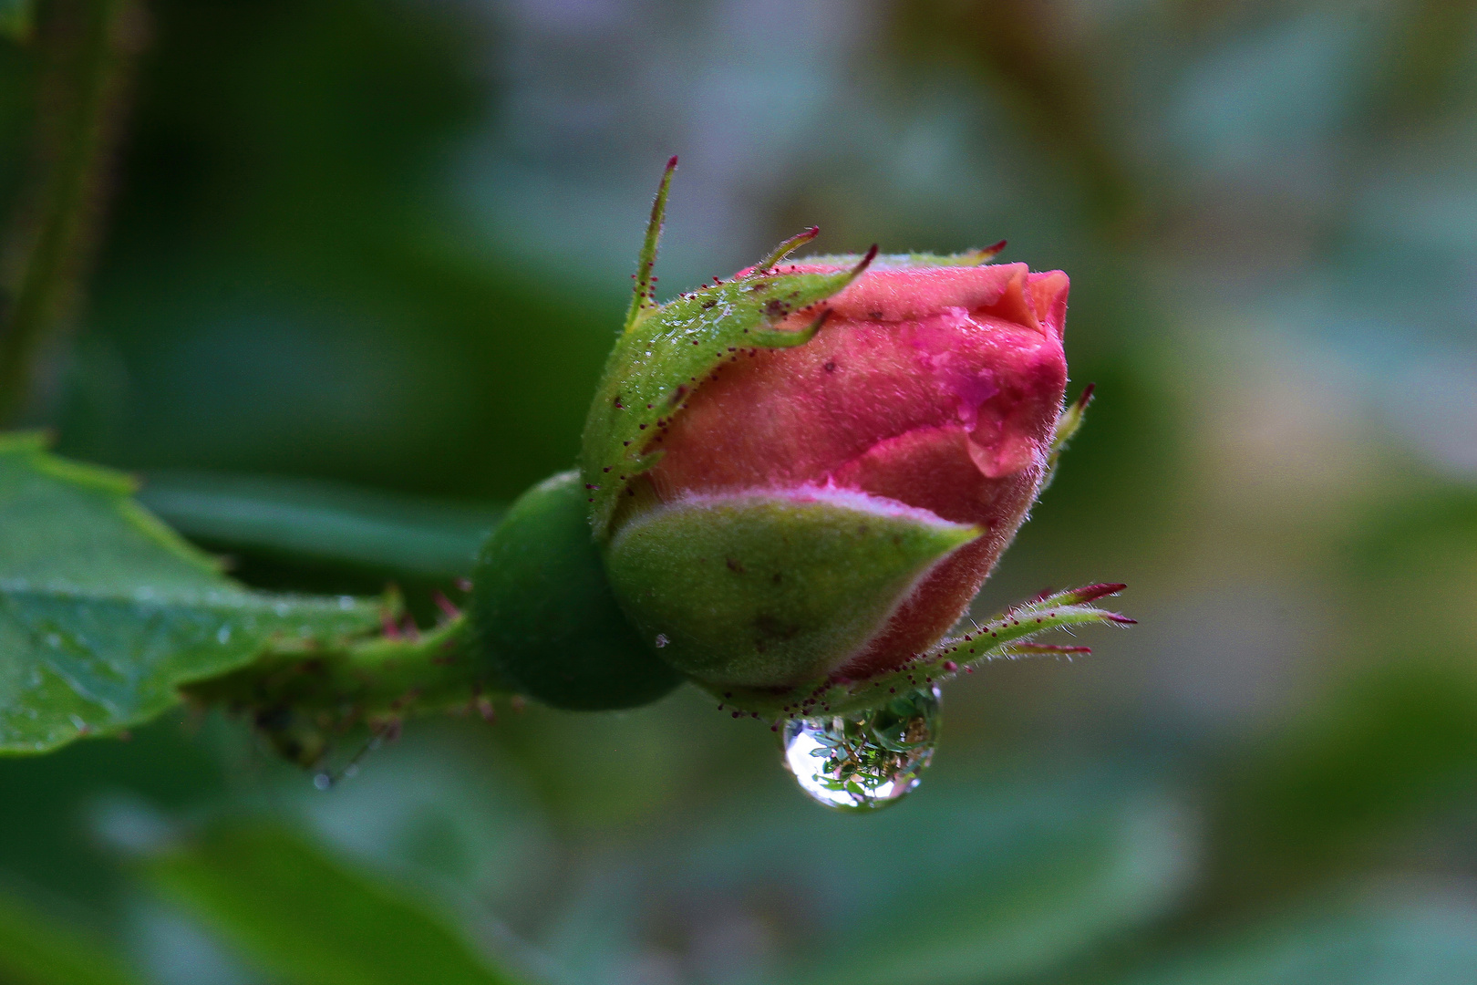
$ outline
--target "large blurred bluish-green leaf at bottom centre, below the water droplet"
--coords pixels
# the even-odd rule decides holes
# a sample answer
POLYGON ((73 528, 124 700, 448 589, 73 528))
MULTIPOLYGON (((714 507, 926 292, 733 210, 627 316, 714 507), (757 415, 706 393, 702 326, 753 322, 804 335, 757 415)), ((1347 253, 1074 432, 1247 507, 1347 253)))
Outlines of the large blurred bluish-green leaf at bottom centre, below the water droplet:
POLYGON ((651 948, 685 941, 688 960, 740 981, 984 985, 1152 921, 1192 871, 1188 818, 1142 787, 933 786, 867 818, 792 796, 600 873, 545 948, 570 981, 637 976, 651 948))

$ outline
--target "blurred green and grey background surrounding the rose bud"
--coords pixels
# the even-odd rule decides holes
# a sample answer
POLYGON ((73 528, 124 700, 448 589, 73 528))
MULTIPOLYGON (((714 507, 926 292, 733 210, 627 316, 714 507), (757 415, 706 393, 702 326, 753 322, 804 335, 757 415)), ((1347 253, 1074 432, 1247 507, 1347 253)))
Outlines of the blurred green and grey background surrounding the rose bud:
MULTIPOLYGON (((681 154, 665 292, 806 224, 1072 276, 1097 402, 979 607, 1140 625, 951 685, 868 817, 693 690, 415 721, 329 792, 185 713, 3 761, 0 981, 1477 981, 1477 3, 126 6, 15 422, 241 577, 455 595, 572 462, 681 154)), ((3 7, 19 214, 68 4, 3 7)))

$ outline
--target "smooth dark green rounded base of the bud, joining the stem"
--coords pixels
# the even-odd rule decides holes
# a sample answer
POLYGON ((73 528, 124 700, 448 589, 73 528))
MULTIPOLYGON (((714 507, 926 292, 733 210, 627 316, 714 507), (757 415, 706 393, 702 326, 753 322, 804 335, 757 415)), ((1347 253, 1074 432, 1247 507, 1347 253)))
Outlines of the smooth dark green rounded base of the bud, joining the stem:
POLYGON ((474 647, 513 688, 554 707, 648 704, 682 678, 642 645, 610 594, 586 505, 575 471, 513 504, 477 560, 474 647))

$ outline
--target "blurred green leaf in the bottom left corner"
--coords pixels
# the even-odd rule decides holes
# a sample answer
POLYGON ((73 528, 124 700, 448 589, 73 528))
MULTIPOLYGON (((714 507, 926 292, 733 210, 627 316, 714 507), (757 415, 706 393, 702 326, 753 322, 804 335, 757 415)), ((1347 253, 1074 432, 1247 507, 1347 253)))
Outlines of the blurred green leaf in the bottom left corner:
POLYGON ((0 896, 0 982, 136 985, 139 979, 100 944, 0 896))

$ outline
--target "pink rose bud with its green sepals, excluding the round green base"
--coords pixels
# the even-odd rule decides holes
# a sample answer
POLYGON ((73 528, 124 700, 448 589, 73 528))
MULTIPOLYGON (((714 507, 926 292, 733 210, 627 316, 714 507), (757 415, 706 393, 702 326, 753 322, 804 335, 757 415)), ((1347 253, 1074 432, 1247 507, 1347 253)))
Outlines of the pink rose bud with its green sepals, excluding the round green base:
POLYGON ((656 307, 662 198, 585 430, 614 598, 709 690, 895 670, 960 619, 1047 476, 1066 275, 990 251, 777 266, 811 230, 656 307))

